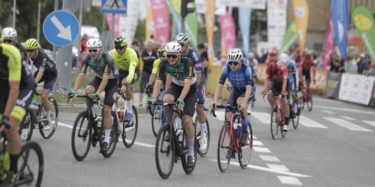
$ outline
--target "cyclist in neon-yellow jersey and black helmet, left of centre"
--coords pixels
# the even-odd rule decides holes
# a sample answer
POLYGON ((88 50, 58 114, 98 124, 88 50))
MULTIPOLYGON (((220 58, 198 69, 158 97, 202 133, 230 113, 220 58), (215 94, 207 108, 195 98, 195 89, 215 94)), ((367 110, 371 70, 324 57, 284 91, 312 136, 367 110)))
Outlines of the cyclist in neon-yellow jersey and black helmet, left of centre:
MULTIPOLYGON (((124 118, 125 122, 129 122, 132 118, 132 92, 131 85, 139 79, 139 59, 136 57, 134 49, 127 47, 127 39, 123 36, 117 36, 113 39, 114 49, 109 51, 115 64, 119 65, 118 70, 118 88, 120 93, 125 93, 127 112, 124 118)), ((118 108, 118 97, 115 104, 118 108)))

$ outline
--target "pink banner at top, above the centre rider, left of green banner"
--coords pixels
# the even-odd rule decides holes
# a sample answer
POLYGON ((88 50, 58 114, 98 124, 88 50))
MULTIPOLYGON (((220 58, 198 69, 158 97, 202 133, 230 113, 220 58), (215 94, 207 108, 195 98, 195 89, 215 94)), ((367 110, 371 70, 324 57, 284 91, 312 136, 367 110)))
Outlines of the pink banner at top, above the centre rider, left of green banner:
POLYGON ((169 14, 165 0, 151 0, 156 39, 164 47, 169 41, 169 14))

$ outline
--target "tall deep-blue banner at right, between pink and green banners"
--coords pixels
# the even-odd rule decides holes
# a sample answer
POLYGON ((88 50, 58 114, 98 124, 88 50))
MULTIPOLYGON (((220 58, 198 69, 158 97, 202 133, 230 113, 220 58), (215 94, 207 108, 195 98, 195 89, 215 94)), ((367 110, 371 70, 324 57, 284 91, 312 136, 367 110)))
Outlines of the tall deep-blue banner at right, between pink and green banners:
POLYGON ((346 59, 347 44, 347 0, 332 0, 332 22, 334 37, 342 58, 346 59))

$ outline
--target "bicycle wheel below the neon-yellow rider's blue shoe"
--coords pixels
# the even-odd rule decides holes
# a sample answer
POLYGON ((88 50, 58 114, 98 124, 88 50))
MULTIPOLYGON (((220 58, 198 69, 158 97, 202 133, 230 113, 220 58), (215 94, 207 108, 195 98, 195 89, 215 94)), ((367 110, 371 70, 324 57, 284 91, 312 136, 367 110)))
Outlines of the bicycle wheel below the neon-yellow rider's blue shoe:
POLYGON ((130 148, 134 144, 136 133, 138 131, 138 114, 134 105, 131 108, 133 118, 129 123, 123 122, 126 125, 124 127, 124 133, 122 133, 122 142, 127 148, 130 148))

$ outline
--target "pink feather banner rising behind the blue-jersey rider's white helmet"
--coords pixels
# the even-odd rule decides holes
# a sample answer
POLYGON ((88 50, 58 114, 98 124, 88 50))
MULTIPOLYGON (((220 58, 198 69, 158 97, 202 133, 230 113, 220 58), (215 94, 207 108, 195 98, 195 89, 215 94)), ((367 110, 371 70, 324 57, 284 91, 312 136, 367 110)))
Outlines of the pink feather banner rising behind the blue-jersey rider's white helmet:
POLYGON ((225 43, 225 54, 229 49, 235 48, 235 26, 232 15, 226 11, 225 15, 219 15, 221 36, 225 43))

